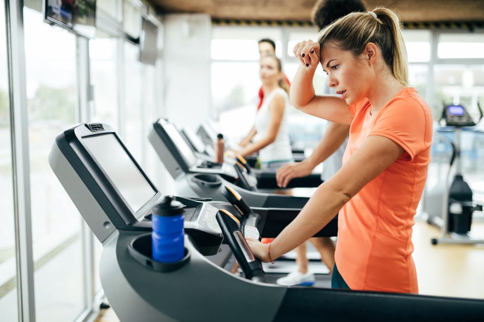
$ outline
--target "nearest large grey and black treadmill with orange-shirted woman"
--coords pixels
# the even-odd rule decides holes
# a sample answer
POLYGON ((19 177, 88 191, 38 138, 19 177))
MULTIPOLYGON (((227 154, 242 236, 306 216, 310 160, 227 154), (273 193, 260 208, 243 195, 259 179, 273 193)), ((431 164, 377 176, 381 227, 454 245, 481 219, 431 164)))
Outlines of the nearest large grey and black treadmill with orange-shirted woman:
POLYGON ((185 205, 185 256, 175 263, 154 261, 149 214, 161 192, 111 127, 89 123, 63 131, 49 163, 103 244, 101 283, 122 322, 428 322, 484 316, 484 300, 265 283, 261 263, 244 239, 257 236, 245 227, 275 237, 296 215, 291 210, 250 208, 240 215, 230 203, 177 197, 185 205), (243 277, 224 268, 232 253, 243 277))

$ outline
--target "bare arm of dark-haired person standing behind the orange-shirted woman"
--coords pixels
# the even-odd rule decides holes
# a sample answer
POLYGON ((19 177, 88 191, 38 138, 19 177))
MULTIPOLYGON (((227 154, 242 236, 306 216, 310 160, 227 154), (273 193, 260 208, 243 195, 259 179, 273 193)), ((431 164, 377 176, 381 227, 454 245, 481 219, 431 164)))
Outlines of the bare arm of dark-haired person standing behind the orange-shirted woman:
POLYGON ((276 173, 276 180, 280 187, 285 188, 290 180, 309 176, 314 168, 343 144, 348 137, 350 126, 331 122, 323 139, 315 147, 309 158, 301 162, 291 162, 283 165, 276 173))

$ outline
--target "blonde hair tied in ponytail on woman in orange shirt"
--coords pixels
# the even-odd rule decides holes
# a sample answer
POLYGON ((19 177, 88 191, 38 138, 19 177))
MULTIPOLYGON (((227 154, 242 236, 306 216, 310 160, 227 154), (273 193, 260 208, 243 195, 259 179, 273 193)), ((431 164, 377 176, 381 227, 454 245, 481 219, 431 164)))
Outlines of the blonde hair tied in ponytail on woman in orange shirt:
POLYGON ((408 64, 402 23, 395 12, 377 7, 369 12, 353 12, 324 28, 319 35, 321 47, 332 42, 340 49, 360 55, 368 42, 380 47, 393 76, 408 86, 408 64))

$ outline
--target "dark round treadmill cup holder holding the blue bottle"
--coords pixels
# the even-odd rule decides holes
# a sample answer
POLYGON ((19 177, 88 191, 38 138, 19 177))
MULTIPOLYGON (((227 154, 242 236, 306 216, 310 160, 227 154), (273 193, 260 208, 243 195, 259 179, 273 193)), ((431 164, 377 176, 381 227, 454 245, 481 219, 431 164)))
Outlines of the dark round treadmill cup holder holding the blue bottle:
POLYGON ((156 272, 168 273, 176 271, 190 260, 190 250, 185 247, 185 256, 179 261, 163 263, 153 259, 151 250, 151 233, 137 236, 128 245, 128 251, 141 265, 156 272))

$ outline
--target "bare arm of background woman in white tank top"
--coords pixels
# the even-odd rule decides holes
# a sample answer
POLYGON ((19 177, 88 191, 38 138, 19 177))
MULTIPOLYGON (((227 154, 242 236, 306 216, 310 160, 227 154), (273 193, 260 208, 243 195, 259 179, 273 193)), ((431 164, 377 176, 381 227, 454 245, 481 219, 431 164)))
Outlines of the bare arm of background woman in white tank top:
POLYGON ((257 152, 276 140, 277 134, 279 133, 279 128, 281 127, 282 117, 284 116, 284 110, 285 99, 282 95, 276 94, 272 99, 271 103, 269 104, 271 118, 269 121, 269 129, 267 130, 267 135, 260 141, 254 142, 240 150, 239 153, 242 156, 250 155, 254 152, 257 152))

